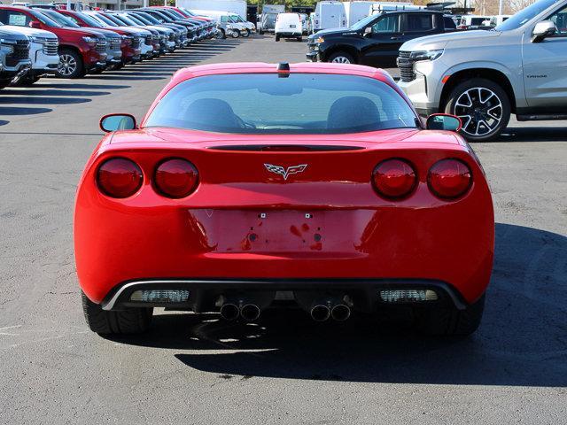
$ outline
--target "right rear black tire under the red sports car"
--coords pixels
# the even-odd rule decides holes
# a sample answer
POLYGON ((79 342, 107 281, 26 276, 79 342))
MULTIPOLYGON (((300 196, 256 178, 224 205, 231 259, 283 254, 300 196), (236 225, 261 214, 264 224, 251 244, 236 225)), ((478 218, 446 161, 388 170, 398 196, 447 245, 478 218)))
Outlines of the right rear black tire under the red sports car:
POLYGON ((454 305, 415 308, 416 329, 430 336, 468 336, 477 330, 485 310, 485 294, 464 310, 454 305))

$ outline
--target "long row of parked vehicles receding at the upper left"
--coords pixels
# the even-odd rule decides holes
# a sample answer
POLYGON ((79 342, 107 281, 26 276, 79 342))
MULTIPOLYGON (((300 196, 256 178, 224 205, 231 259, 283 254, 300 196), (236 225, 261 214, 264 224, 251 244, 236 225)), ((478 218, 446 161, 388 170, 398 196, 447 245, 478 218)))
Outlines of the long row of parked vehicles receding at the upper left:
POLYGON ((0 89, 33 84, 46 74, 81 78, 117 70, 193 42, 234 36, 224 27, 214 17, 175 7, 77 12, 56 4, 1 5, 0 89))

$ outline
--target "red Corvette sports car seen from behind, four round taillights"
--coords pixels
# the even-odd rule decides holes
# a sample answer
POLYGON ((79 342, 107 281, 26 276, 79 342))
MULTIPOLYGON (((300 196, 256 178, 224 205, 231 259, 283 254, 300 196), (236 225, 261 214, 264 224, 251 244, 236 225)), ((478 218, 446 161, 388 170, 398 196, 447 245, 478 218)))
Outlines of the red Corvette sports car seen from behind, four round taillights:
POLYGON ((74 215, 93 331, 143 332, 156 306, 254 321, 281 301, 315 321, 403 308, 429 334, 478 327, 485 174, 460 121, 423 122, 387 73, 195 66, 140 125, 101 128, 74 215))

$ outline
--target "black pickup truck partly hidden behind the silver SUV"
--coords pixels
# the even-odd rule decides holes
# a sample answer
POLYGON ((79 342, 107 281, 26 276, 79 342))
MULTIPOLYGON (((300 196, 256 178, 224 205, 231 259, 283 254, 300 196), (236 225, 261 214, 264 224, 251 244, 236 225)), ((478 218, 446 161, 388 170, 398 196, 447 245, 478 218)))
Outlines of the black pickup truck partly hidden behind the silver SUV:
POLYGON ((456 31, 454 20, 443 12, 383 12, 361 19, 349 28, 327 29, 310 35, 307 60, 396 66, 398 50, 404 42, 451 31, 456 31))

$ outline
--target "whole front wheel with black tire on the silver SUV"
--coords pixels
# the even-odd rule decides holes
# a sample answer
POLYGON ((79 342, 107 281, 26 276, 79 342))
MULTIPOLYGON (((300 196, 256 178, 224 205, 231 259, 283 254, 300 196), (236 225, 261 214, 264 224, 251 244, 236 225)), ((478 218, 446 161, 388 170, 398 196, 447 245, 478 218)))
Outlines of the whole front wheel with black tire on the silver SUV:
POLYGON ((445 112, 460 117, 470 117, 470 119, 461 118, 461 134, 470 142, 488 142, 498 137, 508 127, 511 107, 509 97, 500 85, 484 78, 471 78, 462 81, 451 90, 445 104, 445 112), (470 103, 470 107, 462 105, 463 99, 466 100, 466 104, 470 103), (470 112, 470 115, 466 115, 467 112, 470 112))

